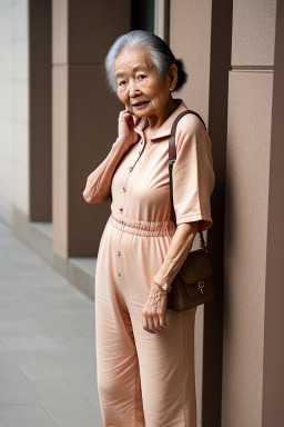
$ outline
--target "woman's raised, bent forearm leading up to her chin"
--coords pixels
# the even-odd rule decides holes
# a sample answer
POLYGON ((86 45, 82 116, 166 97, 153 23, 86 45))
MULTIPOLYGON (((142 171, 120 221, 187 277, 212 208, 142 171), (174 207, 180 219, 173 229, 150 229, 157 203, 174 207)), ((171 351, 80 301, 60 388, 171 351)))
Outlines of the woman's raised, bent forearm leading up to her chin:
POLYGON ((101 203, 110 197, 114 169, 128 149, 125 140, 118 138, 108 157, 89 175, 83 191, 83 198, 88 203, 101 203))

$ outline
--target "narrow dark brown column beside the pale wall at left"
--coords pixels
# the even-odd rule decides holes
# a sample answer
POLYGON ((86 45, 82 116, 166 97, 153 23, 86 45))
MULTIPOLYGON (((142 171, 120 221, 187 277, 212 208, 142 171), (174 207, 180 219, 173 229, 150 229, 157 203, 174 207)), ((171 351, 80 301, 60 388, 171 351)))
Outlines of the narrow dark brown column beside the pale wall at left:
POLYGON ((51 1, 29 1, 29 219, 51 221, 51 1))

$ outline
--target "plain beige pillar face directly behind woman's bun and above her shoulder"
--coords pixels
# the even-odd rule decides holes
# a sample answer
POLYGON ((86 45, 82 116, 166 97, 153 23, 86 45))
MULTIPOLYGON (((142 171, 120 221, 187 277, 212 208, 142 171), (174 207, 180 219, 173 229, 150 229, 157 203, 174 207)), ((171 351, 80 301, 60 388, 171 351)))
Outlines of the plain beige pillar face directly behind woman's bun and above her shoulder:
POLYGON ((209 118, 211 1, 171 1, 170 47, 184 60, 187 82, 176 97, 197 111, 205 123, 209 118))

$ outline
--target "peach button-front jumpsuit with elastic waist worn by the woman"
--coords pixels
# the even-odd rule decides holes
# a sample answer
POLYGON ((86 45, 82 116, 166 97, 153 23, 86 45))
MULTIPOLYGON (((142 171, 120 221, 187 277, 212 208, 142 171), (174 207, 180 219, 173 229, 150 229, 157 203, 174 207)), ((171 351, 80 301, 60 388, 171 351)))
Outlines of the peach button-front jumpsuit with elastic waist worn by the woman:
MULTIPOLYGON (((187 109, 182 99, 175 102, 176 110, 151 140, 144 138, 143 118, 135 128, 138 141, 125 149, 118 139, 108 156, 109 170, 97 168, 95 202, 112 196, 98 252, 94 302, 98 389, 109 427, 196 427, 196 308, 166 309, 169 326, 155 334, 142 327, 142 307, 175 232, 169 139, 173 120, 187 109)), ((213 224, 215 176, 211 140, 196 116, 180 120, 175 143, 176 224, 201 220, 200 230, 206 230, 213 224)))

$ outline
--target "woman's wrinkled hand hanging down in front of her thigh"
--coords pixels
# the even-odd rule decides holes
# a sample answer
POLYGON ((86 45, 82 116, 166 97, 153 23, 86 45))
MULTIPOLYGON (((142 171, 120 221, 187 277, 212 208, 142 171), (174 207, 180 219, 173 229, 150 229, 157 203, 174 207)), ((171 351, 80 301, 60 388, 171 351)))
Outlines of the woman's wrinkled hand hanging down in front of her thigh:
POLYGON ((165 329, 169 322, 165 321, 168 291, 152 282, 151 289, 142 309, 143 329, 150 334, 165 329))

